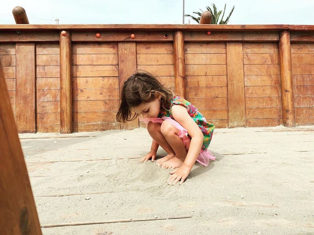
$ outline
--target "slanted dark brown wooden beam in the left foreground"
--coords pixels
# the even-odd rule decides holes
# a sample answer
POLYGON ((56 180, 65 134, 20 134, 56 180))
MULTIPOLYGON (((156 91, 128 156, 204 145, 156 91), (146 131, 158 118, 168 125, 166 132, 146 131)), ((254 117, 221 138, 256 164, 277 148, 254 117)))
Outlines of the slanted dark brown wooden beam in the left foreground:
MULTIPOLYGON (((27 60, 27 58, 25 59, 27 60)), ((12 107, 0 63, 1 234, 41 235, 12 107)), ((24 108, 27 111, 27 108, 24 108)))

